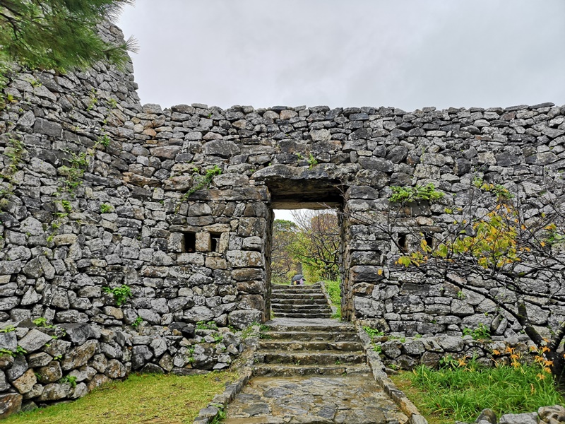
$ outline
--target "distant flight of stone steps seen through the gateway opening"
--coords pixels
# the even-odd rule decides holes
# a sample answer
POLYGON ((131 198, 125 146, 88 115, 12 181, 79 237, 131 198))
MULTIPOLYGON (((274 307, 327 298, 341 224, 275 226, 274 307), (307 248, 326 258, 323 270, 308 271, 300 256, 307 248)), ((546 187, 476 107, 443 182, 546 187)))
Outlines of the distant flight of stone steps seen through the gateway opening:
POLYGON ((321 285, 273 285, 270 309, 275 318, 329 318, 331 308, 321 285))

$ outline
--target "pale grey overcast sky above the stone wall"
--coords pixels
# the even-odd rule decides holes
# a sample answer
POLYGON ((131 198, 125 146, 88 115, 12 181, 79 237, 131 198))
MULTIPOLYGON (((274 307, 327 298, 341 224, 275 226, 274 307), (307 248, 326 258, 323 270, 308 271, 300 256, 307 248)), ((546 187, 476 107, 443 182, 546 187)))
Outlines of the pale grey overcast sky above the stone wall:
POLYGON ((143 103, 565 104, 564 0, 136 0, 143 103))

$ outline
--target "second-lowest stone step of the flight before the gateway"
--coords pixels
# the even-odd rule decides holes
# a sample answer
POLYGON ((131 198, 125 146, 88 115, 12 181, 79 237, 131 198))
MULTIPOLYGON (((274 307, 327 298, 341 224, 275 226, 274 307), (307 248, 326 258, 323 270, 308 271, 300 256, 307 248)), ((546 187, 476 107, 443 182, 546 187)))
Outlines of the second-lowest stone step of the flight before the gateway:
POLYGON ((341 365, 364 363, 365 354, 362 351, 347 353, 340 351, 258 351, 255 353, 255 360, 258 360, 259 363, 267 363, 269 365, 341 365))

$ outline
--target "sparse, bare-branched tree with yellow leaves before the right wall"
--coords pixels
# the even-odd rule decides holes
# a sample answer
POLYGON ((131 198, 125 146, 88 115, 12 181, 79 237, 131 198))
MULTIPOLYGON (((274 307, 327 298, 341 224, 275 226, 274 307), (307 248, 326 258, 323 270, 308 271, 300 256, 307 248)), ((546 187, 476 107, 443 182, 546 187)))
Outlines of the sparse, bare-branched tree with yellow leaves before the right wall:
POLYGON ((396 245, 396 254, 389 255, 391 271, 420 273, 414 281, 451 283, 461 295, 468 290, 494 302, 503 316, 521 325, 556 382, 564 384, 559 345, 565 322, 549 340, 535 329, 530 314, 540 298, 565 307, 565 202, 546 201, 540 210, 541 203, 522 204, 524 198, 518 186, 511 192, 481 179, 453 198, 433 184, 391 187, 388 208, 352 218, 376 227, 396 245), (513 295, 500 296, 500 290, 485 290, 471 280, 513 295))

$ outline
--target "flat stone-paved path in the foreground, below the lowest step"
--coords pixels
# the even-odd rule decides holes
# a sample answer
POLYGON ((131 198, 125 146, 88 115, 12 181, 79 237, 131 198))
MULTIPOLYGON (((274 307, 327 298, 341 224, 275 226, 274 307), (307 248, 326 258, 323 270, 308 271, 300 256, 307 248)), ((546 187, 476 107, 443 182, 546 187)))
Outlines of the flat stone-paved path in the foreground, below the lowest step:
POLYGON ((255 377, 227 414, 225 424, 408 422, 370 375, 255 377))

